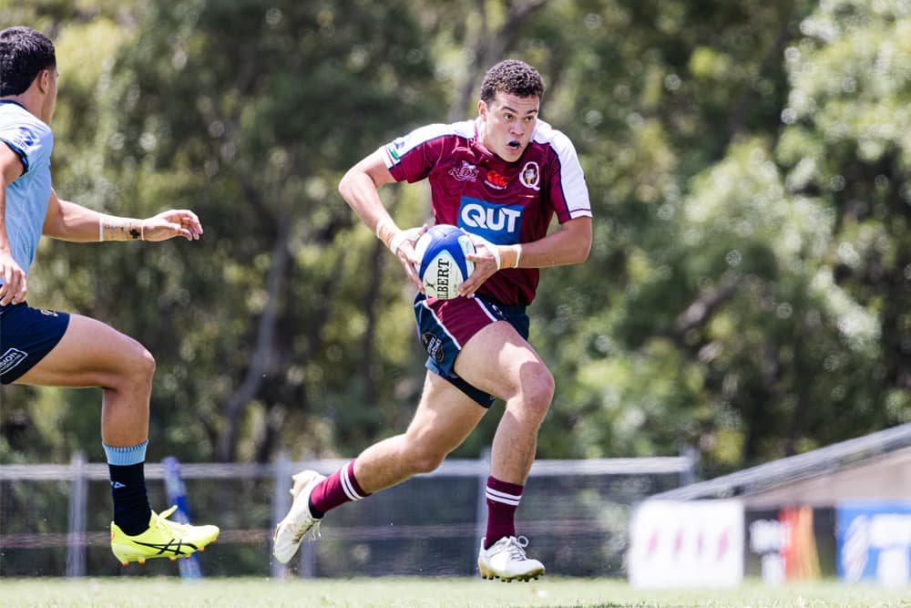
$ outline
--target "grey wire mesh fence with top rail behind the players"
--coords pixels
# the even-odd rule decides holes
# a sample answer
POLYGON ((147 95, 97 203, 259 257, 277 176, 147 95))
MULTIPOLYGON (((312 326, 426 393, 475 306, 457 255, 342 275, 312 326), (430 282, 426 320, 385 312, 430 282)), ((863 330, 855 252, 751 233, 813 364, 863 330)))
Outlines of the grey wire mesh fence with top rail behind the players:
MULTIPOLYGON (((287 565, 271 558, 271 533, 291 507, 293 473, 330 474, 347 459, 180 466, 195 523, 221 528, 198 554, 204 576, 472 576, 486 526, 486 457, 451 459, 322 523, 287 565)), ((517 533, 548 572, 624 576, 630 509, 686 485, 691 455, 646 459, 537 460, 517 513, 517 533)), ((165 510, 166 469, 147 463, 149 500, 165 510)), ((107 465, 80 453, 69 465, 0 465, 0 577, 174 576, 168 560, 123 568, 111 555, 107 465)))

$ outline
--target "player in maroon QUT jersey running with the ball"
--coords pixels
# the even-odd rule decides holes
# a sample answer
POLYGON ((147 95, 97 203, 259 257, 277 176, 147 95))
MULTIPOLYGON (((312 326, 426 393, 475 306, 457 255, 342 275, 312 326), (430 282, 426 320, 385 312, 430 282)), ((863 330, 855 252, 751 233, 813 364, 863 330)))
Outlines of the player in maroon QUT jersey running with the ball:
POLYGON ((591 206, 572 143, 538 119, 543 94, 535 68, 502 61, 484 77, 476 119, 415 129, 343 177, 344 200, 422 292, 415 316, 428 371, 402 435, 365 449, 328 478, 315 471, 294 476, 292 509, 275 532, 280 562, 292 558, 325 511, 436 469, 499 397, 506 409, 491 446, 478 571, 503 581, 544 573, 541 562, 527 557, 527 538, 517 536, 515 525, 537 429, 554 393, 553 376, 527 343, 526 307, 535 298, 540 268, 588 257, 591 206), (475 272, 459 288, 460 297, 437 300, 423 293, 414 232, 395 225, 378 192, 403 180, 428 180, 435 223, 455 224, 480 245, 468 256, 475 272), (554 218, 559 229, 549 232, 554 218))

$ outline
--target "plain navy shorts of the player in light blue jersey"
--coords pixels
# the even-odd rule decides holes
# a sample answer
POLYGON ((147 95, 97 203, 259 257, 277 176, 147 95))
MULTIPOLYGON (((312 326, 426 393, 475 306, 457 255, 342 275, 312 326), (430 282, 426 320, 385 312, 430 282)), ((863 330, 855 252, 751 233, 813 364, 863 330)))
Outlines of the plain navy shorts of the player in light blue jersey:
POLYGON ((0 306, 0 384, 11 384, 36 366, 68 325, 68 313, 29 308, 25 302, 0 306))

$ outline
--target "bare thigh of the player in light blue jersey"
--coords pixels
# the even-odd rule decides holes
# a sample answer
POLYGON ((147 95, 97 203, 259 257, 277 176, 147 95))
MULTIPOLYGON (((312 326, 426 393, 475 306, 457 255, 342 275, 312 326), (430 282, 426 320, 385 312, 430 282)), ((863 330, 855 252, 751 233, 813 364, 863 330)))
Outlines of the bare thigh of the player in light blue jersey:
POLYGON ((38 386, 117 387, 125 378, 151 375, 155 360, 136 340, 81 314, 70 314, 67 332, 36 366, 15 380, 38 386))

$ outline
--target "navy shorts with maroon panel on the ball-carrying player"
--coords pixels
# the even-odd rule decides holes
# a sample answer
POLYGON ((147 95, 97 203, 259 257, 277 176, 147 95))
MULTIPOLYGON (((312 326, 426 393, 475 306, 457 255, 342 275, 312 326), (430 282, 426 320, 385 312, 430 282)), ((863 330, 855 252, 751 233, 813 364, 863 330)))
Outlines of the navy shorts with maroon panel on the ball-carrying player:
POLYGON ((497 321, 506 321, 518 335, 528 339, 529 319, 525 306, 505 306, 475 296, 437 300, 418 293, 415 297, 417 335, 427 351, 425 367, 443 377, 482 407, 496 397, 471 386, 455 374, 455 357, 478 331, 497 321))

